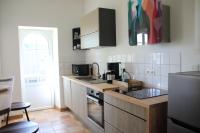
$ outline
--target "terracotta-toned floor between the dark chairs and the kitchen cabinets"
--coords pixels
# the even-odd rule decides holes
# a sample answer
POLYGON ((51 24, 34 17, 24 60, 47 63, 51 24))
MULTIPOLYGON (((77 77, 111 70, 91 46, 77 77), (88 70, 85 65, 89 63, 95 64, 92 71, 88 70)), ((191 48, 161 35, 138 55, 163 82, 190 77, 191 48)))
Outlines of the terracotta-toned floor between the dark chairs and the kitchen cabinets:
MULTIPOLYGON (((71 112, 60 112, 55 109, 29 112, 31 121, 37 122, 40 126, 39 133, 91 133, 78 121, 71 112)), ((9 123, 26 120, 12 120, 9 123)))

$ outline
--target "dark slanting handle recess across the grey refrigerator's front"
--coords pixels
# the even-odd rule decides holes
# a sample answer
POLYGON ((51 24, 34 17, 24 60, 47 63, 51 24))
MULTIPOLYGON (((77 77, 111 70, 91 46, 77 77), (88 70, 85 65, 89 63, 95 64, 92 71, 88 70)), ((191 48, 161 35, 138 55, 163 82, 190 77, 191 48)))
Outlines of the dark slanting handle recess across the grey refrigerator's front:
POLYGON ((189 130, 194 131, 194 132, 196 132, 196 133, 200 133, 200 129, 197 128, 197 127, 188 125, 188 124, 186 124, 186 123, 184 123, 184 122, 181 122, 181 121, 176 120, 176 119, 173 119, 173 118, 170 118, 170 120, 171 120, 172 123, 174 123, 174 124, 176 124, 176 125, 179 125, 179 126, 181 126, 181 127, 184 127, 184 128, 186 128, 186 129, 189 129, 189 130))

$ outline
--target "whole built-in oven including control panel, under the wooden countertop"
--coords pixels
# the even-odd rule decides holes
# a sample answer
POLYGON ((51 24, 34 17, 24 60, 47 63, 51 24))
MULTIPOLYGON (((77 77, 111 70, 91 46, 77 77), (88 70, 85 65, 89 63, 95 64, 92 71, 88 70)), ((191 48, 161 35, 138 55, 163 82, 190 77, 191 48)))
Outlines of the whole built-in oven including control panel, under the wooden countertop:
POLYGON ((88 119, 104 128, 104 100, 103 93, 87 89, 87 114, 88 119))

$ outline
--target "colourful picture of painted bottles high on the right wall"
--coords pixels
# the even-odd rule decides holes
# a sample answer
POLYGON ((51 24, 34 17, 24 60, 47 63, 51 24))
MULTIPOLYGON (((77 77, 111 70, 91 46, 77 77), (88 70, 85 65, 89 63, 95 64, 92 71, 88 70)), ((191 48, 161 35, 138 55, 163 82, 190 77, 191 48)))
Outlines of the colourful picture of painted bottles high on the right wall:
MULTIPOLYGON (((161 0, 129 0, 129 44, 144 45, 166 41, 165 22, 161 0)), ((169 22, 168 22, 169 23, 169 22)), ((169 24, 167 24, 169 28, 169 24)), ((166 31, 169 32, 169 31, 166 31)))

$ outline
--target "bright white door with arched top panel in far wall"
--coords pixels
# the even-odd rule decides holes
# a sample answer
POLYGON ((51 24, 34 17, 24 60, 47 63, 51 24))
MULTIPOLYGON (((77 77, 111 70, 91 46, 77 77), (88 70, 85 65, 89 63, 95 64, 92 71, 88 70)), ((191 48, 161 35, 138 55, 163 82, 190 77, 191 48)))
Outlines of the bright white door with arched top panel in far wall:
POLYGON ((51 29, 19 27, 22 96, 31 110, 54 107, 54 34, 51 29))

